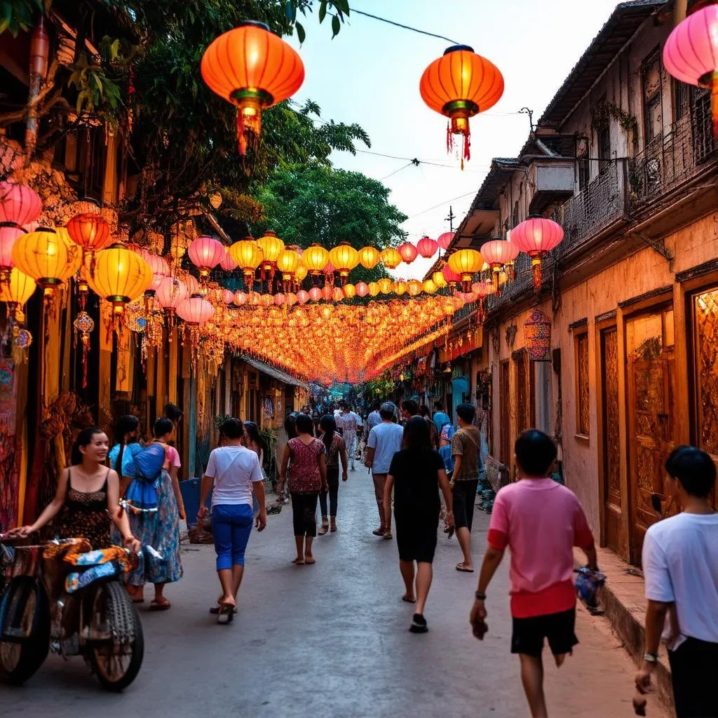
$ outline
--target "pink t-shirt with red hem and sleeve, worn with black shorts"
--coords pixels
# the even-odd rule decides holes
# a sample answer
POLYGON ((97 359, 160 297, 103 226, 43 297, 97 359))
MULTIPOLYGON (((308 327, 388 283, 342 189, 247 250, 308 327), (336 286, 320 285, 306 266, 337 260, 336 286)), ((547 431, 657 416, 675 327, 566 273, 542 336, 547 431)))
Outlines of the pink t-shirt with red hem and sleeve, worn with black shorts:
POLYGON ((488 541, 511 551, 511 614, 567 611, 576 604, 573 547, 593 535, 572 490, 552 479, 521 479, 496 495, 488 541))

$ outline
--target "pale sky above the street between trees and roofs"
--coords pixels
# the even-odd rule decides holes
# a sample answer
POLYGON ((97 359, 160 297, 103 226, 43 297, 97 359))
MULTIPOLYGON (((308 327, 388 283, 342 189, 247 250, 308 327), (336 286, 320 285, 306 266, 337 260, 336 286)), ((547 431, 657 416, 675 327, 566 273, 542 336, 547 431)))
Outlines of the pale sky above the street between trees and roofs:
MULTIPOLYGON (((330 19, 302 21, 299 47, 306 78, 294 99, 311 98, 324 120, 356 122, 368 132, 377 154, 333 152, 335 167, 363 172, 391 189, 390 201, 409 219, 404 230, 416 243, 449 230, 449 207, 465 216, 488 172, 492 157, 515 157, 529 133, 528 116, 541 116, 556 90, 615 8, 616 0, 351 0, 350 6, 394 22, 444 35, 470 45, 503 74, 503 97, 471 120, 471 159, 447 155, 447 118, 429 109, 419 95, 421 74, 453 42, 427 37, 352 14, 331 39, 330 19), (420 164, 416 157, 447 167, 420 164), (449 201, 451 200, 451 201, 449 201)), ((398 275, 424 276, 434 260, 401 264, 398 275)))

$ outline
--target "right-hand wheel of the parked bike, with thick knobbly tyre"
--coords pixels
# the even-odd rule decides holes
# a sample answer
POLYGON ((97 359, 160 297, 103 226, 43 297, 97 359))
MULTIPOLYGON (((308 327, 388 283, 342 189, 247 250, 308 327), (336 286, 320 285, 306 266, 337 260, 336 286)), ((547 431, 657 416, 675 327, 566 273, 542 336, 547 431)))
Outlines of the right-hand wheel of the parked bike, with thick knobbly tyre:
POLYGON ((101 686, 122 691, 139 673, 144 656, 144 636, 139 614, 118 581, 101 584, 92 600, 90 663, 101 686))

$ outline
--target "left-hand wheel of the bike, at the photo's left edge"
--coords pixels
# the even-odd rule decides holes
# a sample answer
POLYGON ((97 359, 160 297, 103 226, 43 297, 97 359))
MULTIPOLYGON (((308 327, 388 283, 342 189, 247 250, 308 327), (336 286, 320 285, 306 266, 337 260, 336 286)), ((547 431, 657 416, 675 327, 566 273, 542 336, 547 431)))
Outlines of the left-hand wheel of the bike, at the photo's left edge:
POLYGON ((31 577, 11 582, 0 603, 0 676, 22 684, 50 651, 50 610, 42 584, 31 577))

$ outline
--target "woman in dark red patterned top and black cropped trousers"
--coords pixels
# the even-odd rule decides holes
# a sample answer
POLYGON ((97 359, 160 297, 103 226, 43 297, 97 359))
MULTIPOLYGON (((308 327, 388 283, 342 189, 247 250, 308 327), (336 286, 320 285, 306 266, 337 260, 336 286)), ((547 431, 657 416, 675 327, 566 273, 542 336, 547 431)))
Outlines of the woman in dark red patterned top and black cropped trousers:
POLYGON ((298 436, 287 442, 281 459, 279 492, 284 491, 289 467, 289 493, 292 495, 294 541, 297 544, 297 557, 292 563, 301 566, 315 562, 312 542, 317 536, 317 497, 321 490, 326 491, 329 487, 325 448, 312 436, 312 419, 307 414, 299 414, 296 425, 298 436))

